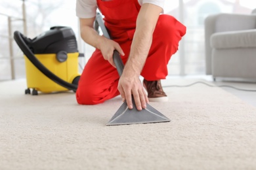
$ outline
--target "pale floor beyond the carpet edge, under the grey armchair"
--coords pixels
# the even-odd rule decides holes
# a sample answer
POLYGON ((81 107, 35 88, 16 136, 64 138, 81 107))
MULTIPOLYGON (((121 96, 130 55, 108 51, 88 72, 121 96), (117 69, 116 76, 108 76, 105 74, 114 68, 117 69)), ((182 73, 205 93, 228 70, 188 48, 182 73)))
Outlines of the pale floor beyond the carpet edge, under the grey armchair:
MULTIPOLYGON (((168 76, 167 81, 163 82, 163 86, 169 86, 169 82, 176 78, 181 78, 181 76, 168 76)), ((196 75, 196 76, 182 76, 188 80, 192 80, 190 84, 193 84, 193 80, 205 80, 210 84, 215 86, 220 86, 226 92, 236 95, 240 99, 244 100, 246 103, 256 107, 256 80, 236 80, 236 79, 221 79, 217 78, 213 81, 211 76, 196 75)), ((175 84, 175 83, 174 83, 175 84)), ((172 84, 173 85, 173 84, 172 84)), ((179 85, 179 84, 177 84, 179 85)), ((186 84, 183 84, 185 86, 186 84)), ((189 85, 189 84, 188 84, 189 85)), ((206 86, 206 85, 205 85, 206 86)))

